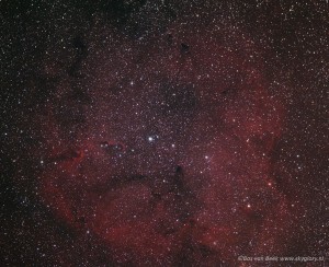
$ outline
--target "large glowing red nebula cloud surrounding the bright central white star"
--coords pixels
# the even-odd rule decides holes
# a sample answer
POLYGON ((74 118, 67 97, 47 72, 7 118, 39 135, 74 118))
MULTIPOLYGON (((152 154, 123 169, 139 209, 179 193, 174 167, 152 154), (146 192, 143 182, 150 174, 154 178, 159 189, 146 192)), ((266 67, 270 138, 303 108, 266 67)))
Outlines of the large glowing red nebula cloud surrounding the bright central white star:
POLYGON ((89 102, 61 88, 41 126, 41 197, 114 263, 212 266, 274 255, 292 220, 271 177, 283 108, 242 32, 182 25, 143 42, 111 28, 91 37, 89 102), (105 35, 113 42, 102 46, 105 35), (69 131, 55 115, 63 102, 83 115, 69 131))

